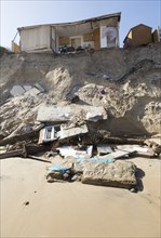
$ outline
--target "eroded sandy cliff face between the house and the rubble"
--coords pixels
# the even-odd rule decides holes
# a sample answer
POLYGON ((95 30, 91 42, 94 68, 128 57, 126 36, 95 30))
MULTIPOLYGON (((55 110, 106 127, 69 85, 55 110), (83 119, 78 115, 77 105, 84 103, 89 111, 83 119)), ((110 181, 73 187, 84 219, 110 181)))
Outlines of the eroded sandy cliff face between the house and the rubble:
POLYGON ((33 124, 42 104, 70 105, 75 94, 80 98, 76 104, 106 109, 107 120, 96 122, 94 130, 122 136, 159 133, 160 47, 110 49, 92 55, 5 52, 0 58, 0 140, 33 124), (17 88, 16 94, 15 85, 24 91, 17 88))

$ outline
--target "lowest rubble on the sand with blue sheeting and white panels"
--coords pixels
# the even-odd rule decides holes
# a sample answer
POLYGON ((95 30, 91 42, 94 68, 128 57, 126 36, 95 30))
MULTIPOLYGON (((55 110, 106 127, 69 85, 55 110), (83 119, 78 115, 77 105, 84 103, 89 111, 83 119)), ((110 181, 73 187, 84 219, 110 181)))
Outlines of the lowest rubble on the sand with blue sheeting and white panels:
MULTIPOLYGON (((98 144, 97 148, 99 148, 98 144)), ((118 145, 112 147, 104 144, 104 156, 97 155, 93 146, 89 145, 83 149, 79 146, 63 146, 57 148, 63 157, 56 167, 49 169, 46 174, 48 182, 73 182, 80 181, 84 184, 122 187, 132 190, 139 190, 137 184, 136 166, 128 161, 129 156, 135 157, 137 153, 147 151, 147 147, 138 145, 118 145), (110 149, 109 149, 110 148, 110 149), (70 163, 66 166, 66 162, 70 163)), ((103 150, 102 150, 103 151, 103 150)))

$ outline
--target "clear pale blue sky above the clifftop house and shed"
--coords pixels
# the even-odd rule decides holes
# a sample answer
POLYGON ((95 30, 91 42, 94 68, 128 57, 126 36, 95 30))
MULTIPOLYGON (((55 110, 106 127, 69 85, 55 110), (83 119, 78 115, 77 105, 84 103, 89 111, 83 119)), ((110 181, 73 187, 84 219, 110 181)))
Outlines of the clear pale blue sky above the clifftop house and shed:
MULTIPOLYGON (((120 47, 128 31, 161 24, 161 0, 0 0, 0 45, 11 49, 17 27, 68 23, 121 12, 120 47)), ((17 38, 18 41, 18 38, 17 38)))

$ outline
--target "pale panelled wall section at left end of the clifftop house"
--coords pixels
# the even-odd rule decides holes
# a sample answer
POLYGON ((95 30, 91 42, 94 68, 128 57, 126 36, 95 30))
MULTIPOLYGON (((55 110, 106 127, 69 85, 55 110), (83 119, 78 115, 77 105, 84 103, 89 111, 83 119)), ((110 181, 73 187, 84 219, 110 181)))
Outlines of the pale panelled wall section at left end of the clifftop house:
POLYGON ((51 27, 40 26, 21 30, 21 50, 33 51, 51 48, 51 27))

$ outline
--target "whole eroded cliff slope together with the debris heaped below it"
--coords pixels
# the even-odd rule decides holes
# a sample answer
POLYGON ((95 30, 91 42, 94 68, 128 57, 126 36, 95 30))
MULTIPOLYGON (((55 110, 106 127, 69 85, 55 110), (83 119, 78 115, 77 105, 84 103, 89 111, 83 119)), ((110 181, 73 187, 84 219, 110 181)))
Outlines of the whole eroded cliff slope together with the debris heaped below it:
POLYGON ((129 157, 161 153, 148 140, 160 129, 159 47, 92 56, 4 52, 0 159, 53 163, 48 182, 137 186, 129 157))

